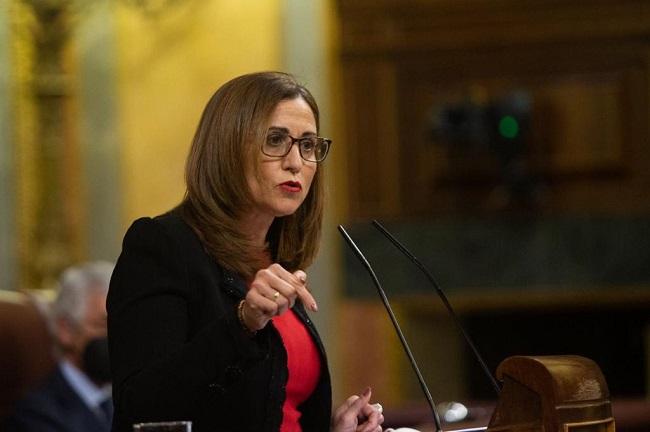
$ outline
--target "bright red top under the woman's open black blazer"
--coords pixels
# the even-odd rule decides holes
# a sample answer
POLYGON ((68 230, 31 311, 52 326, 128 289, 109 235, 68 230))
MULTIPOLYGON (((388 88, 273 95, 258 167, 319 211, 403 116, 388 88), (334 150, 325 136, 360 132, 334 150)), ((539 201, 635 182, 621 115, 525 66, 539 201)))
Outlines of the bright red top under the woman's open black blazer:
POLYGON ((280 432, 301 432, 298 406, 316 389, 320 378, 320 354, 309 331, 293 310, 273 317, 273 325, 282 337, 289 369, 280 432))

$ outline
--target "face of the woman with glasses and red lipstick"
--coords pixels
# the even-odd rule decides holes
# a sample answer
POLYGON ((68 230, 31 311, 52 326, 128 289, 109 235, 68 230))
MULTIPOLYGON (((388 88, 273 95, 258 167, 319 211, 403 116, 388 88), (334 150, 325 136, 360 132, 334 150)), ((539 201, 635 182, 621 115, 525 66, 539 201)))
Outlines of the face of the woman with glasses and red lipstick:
MULTIPOLYGON (((304 99, 281 101, 273 110, 269 132, 288 133, 294 138, 316 135, 316 119, 304 99)), ((256 217, 273 218, 293 214, 304 201, 316 173, 316 162, 300 156, 298 143, 284 157, 269 157, 258 150, 258 176, 248 170, 246 180, 253 197, 256 217)))

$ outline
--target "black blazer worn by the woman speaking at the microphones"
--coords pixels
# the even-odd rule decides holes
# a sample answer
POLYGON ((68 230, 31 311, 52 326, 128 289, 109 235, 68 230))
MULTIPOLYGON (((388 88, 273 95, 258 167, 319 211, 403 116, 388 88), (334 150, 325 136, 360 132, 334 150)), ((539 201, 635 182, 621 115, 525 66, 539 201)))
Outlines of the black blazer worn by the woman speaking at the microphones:
MULTIPOLYGON (((191 420, 194 432, 278 431, 286 351, 269 323, 253 338, 236 309, 244 281, 222 269, 176 212, 133 223, 108 294, 113 431, 141 421, 191 420)), ((304 308, 294 310, 321 353, 321 379, 299 407, 304 431, 327 431, 331 388, 322 343, 304 308)))

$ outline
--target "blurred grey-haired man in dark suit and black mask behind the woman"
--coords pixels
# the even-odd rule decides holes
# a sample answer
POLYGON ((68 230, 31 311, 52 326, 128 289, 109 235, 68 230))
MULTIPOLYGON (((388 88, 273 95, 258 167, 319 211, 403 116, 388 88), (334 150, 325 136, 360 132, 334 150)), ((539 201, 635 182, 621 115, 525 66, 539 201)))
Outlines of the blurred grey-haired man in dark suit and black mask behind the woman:
POLYGON ((10 432, 109 432, 113 415, 106 342, 108 262, 67 269, 52 305, 59 364, 18 403, 10 432))

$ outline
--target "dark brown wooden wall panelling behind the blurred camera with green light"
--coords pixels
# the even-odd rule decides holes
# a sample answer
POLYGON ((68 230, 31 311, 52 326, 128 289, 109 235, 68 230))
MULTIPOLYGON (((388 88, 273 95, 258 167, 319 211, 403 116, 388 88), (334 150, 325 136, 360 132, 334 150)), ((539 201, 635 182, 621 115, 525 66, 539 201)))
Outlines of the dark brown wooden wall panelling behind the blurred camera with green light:
POLYGON ((339 6, 353 219, 503 211, 494 157, 436 144, 431 117, 515 90, 533 101, 536 211, 650 211, 649 2, 339 6))

